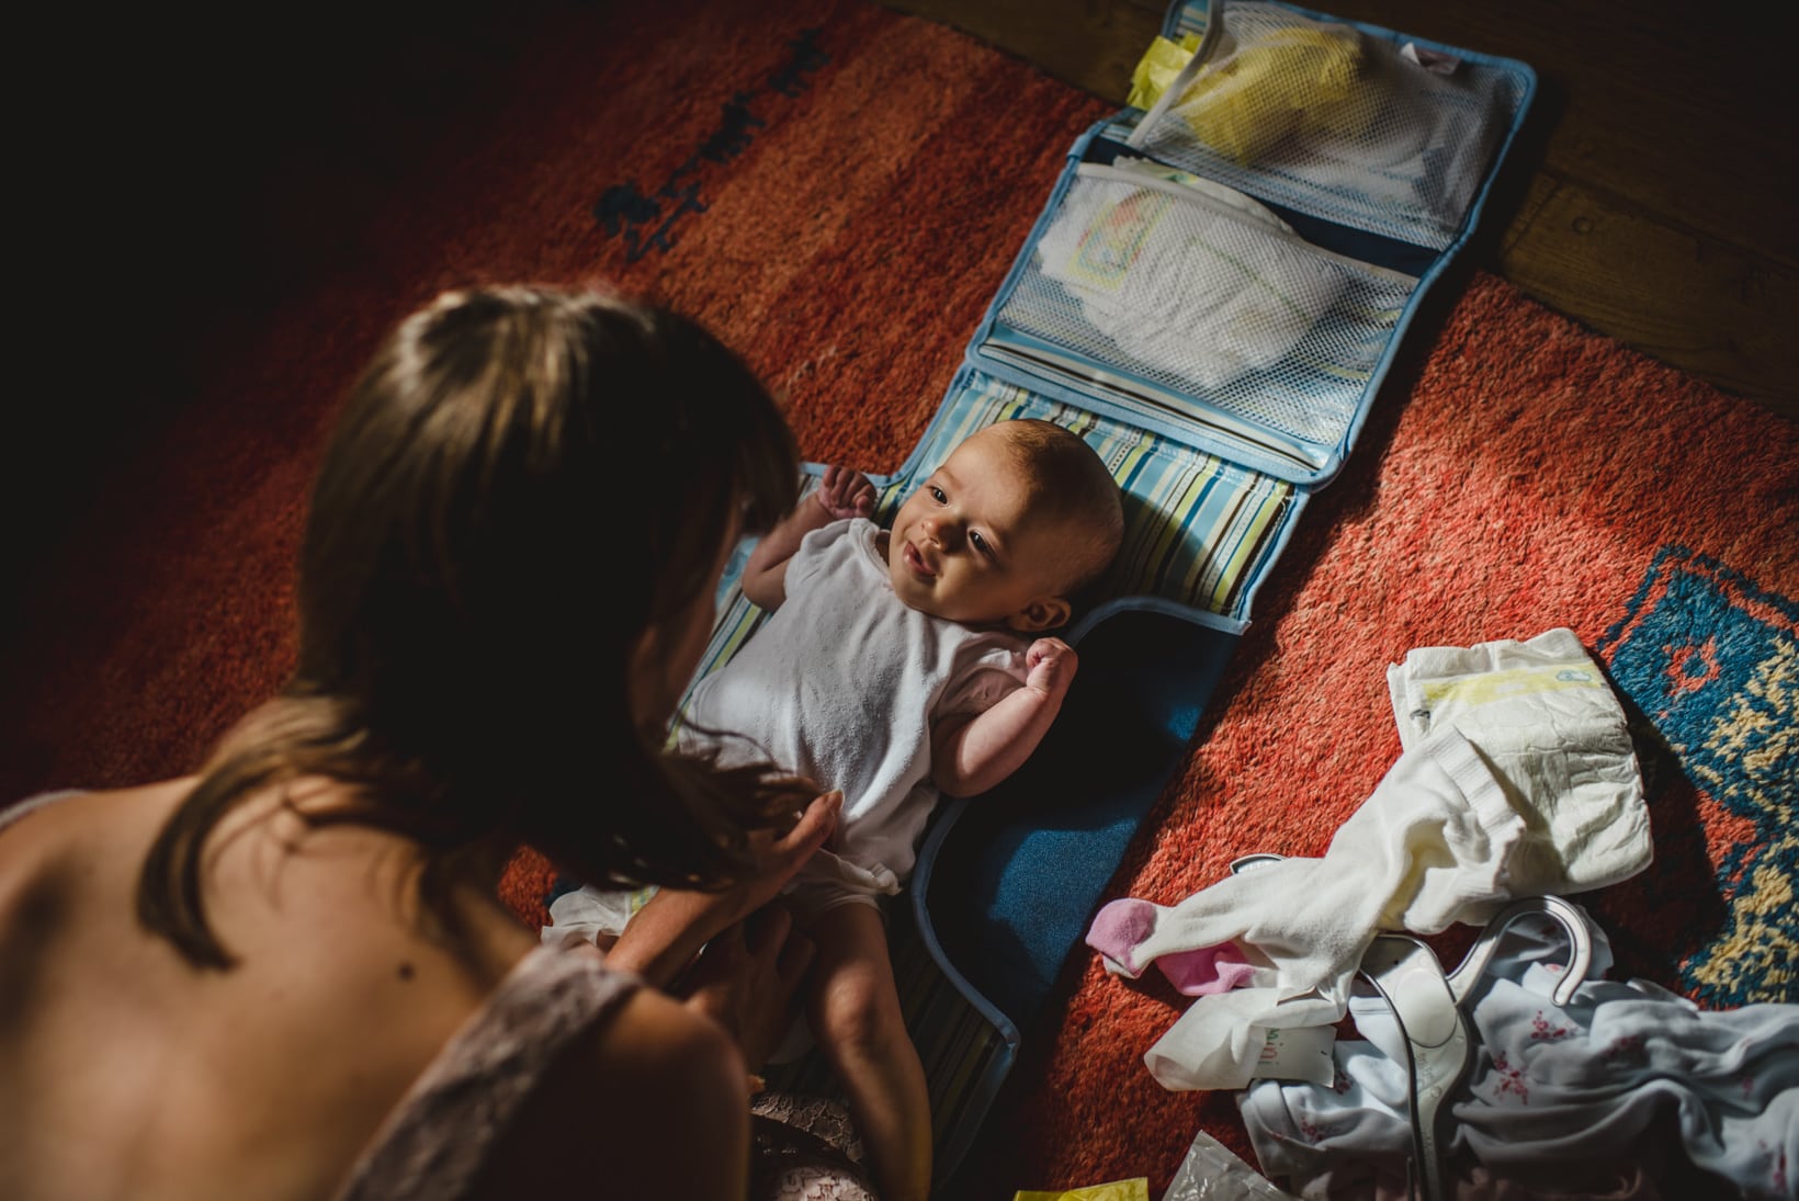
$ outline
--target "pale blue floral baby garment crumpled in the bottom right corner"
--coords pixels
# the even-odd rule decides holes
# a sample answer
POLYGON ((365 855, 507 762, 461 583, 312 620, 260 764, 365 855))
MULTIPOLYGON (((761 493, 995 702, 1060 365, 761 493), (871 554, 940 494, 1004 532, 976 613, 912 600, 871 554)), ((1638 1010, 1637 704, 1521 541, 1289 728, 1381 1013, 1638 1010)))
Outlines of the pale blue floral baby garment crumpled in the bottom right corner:
MULTIPOLYGON (((1641 1163, 1677 1133, 1682 1154, 1749 1197, 1794 1197, 1799 1176, 1799 1005, 1700 1010, 1646 980, 1603 980, 1605 931, 1567 1009, 1553 1001, 1565 944, 1520 922, 1470 998, 1475 1055, 1452 1095, 1452 1149, 1502 1178, 1563 1179, 1641 1163), (1662 1124, 1659 1118, 1673 1116, 1662 1124)), ((1333 1174, 1410 1152, 1405 1039, 1378 996, 1349 1005, 1328 1086, 1263 1081, 1238 1099, 1265 1172, 1304 1196, 1333 1174)))

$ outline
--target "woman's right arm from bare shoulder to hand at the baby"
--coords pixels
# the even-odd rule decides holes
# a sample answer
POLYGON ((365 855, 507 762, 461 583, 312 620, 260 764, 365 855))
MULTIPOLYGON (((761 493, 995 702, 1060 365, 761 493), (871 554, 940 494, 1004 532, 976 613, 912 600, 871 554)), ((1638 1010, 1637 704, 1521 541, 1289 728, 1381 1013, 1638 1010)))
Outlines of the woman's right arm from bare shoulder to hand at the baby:
POLYGON ((750 1072, 786 1034, 813 956, 792 917, 766 901, 835 829, 842 805, 842 793, 813 800, 757 856, 765 870, 754 881, 727 894, 664 888, 631 917, 606 962, 655 987, 533 1090, 475 1196, 743 1201, 750 1072), (684 971, 687 996, 667 994, 684 971))

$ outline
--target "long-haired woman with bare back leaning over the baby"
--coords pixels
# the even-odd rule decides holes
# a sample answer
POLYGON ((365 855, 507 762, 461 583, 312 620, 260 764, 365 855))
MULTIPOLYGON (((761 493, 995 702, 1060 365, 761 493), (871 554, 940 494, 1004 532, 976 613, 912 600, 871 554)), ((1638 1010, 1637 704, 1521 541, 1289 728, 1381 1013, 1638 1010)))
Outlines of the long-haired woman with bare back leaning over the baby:
POLYGON ((196 777, 0 818, 0 1196, 743 1197, 810 956, 743 919, 840 798, 664 734, 797 480, 673 313, 407 318, 320 467, 290 683, 196 777), (520 845, 658 903, 606 958, 545 947, 497 901, 520 845))

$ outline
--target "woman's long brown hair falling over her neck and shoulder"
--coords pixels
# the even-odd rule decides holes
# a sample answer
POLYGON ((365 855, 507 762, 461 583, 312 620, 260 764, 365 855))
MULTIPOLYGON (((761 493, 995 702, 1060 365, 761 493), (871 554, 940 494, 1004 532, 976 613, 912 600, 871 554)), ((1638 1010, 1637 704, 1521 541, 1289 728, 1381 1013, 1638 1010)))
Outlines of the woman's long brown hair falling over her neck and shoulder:
POLYGON ((797 813, 761 770, 667 755, 630 653, 714 586, 721 539, 795 502, 756 376, 698 324, 592 291, 446 293, 354 385, 299 561, 299 663, 219 744, 144 861, 139 919, 228 967, 201 850, 252 793, 349 786, 309 822, 414 840, 421 892, 531 845, 594 885, 721 886, 797 813))

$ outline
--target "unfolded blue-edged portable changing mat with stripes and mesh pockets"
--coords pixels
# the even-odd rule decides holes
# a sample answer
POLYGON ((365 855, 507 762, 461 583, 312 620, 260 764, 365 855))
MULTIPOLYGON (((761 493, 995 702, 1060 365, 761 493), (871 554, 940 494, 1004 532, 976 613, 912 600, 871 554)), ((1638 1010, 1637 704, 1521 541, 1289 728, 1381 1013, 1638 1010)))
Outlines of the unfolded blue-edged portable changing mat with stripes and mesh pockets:
MULTIPOLYGON (((1043 417, 1099 451, 1126 505, 1119 559, 1063 633, 1081 672, 1056 728, 1002 786, 939 807, 891 928, 939 1187, 1536 90, 1524 63, 1275 0, 1175 4, 1162 34, 1191 59, 1076 138, 919 446, 874 478, 885 523, 970 431, 1043 417)), ((738 590, 747 554, 700 676, 763 618, 738 590)), ((768 1079, 838 1091, 817 1052, 768 1079)))

